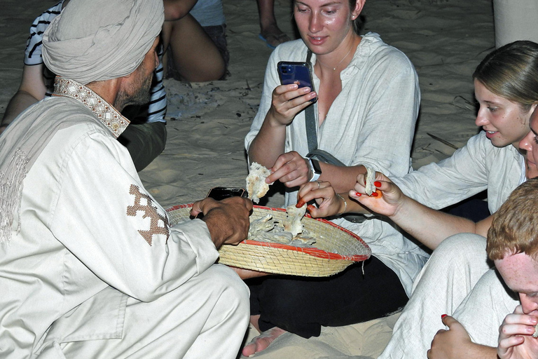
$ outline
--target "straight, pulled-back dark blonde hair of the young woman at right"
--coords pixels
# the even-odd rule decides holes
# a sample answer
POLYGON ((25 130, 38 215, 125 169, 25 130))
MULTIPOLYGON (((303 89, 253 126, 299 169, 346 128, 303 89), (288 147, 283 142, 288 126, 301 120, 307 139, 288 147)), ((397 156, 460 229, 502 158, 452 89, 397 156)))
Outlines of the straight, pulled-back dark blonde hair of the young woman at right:
POLYGON ((497 48, 476 67, 473 79, 529 111, 538 101, 538 43, 514 41, 497 48))

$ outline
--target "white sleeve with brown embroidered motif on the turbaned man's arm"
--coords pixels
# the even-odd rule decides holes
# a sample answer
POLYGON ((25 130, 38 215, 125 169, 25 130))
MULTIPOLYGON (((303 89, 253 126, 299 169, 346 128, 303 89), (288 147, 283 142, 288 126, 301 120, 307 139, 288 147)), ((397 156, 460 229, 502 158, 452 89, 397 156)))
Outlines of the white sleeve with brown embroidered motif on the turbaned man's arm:
POLYGON ((83 137, 63 168, 50 230, 111 287, 149 302, 218 257, 200 219, 169 226, 116 140, 102 133, 83 137))

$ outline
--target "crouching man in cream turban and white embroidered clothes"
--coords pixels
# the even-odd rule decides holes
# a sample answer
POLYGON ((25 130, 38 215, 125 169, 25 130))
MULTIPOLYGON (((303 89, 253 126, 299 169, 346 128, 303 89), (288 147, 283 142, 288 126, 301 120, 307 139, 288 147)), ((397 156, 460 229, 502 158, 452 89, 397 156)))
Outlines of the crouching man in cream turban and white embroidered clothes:
POLYGON ((248 290, 217 249, 251 202, 170 225, 115 138, 147 100, 162 0, 71 0, 43 34, 52 97, 0 136, 0 357, 235 358, 248 290))

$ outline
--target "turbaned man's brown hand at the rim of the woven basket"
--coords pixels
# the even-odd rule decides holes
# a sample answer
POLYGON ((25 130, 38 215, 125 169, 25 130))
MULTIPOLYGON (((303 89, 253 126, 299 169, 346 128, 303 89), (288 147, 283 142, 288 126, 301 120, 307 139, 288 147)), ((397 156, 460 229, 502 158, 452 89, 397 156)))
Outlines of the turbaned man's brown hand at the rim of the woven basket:
POLYGON ((247 198, 230 197, 222 201, 205 198, 193 204, 191 215, 204 214, 202 221, 207 224, 211 239, 219 249, 223 244, 237 244, 247 239, 251 210, 252 201, 247 198))

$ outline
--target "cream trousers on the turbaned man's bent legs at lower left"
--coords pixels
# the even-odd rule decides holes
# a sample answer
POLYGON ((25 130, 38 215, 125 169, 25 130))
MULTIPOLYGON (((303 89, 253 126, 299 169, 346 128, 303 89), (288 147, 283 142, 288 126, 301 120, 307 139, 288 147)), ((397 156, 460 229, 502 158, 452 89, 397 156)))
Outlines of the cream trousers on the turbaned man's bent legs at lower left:
POLYGON ((249 323, 249 290, 222 265, 153 302, 111 287, 96 297, 88 307, 116 301, 118 310, 88 318, 88 307, 81 305, 53 325, 40 359, 235 359, 249 323))

